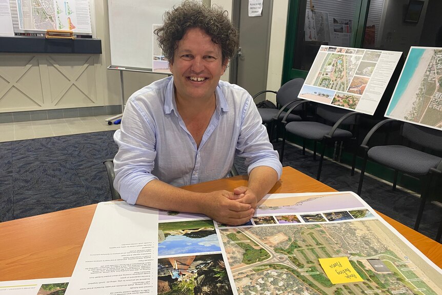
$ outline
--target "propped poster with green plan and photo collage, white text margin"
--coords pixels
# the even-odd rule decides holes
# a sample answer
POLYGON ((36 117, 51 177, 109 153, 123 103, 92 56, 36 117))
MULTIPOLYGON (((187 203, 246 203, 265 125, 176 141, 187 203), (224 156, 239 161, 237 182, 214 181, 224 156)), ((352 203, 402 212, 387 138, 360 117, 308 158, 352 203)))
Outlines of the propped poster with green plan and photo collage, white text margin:
POLYGON ((372 115, 401 55, 323 45, 298 97, 372 115))

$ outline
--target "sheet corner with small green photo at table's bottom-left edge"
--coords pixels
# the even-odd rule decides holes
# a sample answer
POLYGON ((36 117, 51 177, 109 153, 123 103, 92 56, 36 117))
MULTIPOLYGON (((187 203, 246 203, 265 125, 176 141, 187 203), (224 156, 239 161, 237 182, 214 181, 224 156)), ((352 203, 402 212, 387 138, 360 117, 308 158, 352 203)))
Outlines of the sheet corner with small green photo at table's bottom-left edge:
POLYGON ((70 278, 0 282, 0 295, 63 294, 70 278))

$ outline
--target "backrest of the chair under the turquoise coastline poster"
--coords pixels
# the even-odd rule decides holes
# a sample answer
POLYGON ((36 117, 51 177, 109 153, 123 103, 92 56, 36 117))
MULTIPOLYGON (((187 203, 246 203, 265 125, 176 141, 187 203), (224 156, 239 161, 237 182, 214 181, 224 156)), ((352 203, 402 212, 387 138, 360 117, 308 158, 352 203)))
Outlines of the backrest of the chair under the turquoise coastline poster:
POLYGON ((405 122, 402 136, 412 143, 432 150, 442 151, 442 131, 405 122))

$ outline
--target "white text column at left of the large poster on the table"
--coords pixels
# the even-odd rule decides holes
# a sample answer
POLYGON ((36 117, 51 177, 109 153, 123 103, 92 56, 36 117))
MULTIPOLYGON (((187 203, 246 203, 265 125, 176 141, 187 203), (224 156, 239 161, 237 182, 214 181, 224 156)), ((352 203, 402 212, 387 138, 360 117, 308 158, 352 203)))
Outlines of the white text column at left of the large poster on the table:
POLYGON ((99 203, 66 295, 156 293, 155 209, 99 203))

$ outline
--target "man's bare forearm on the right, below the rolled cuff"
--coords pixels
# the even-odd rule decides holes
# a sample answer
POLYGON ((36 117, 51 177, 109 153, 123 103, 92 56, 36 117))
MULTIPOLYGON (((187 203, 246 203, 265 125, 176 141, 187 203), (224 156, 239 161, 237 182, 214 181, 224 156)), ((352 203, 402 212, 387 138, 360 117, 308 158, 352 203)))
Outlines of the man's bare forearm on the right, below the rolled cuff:
POLYGON ((277 181, 278 173, 273 168, 259 166, 250 172, 247 187, 255 193, 256 201, 260 201, 272 189, 277 181))

